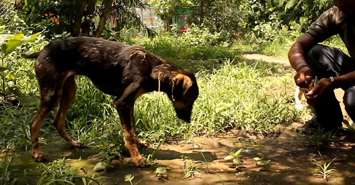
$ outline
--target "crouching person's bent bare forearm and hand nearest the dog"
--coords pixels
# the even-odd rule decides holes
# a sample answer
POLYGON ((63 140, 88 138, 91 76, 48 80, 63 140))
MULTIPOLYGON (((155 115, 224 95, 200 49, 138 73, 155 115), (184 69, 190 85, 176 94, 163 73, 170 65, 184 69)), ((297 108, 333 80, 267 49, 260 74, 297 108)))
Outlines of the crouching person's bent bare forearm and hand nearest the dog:
POLYGON ((318 44, 315 38, 310 34, 303 34, 292 45, 289 52, 291 66, 297 71, 295 75, 296 85, 307 88, 306 76, 313 77, 313 72, 306 62, 306 55, 313 46, 318 44))

